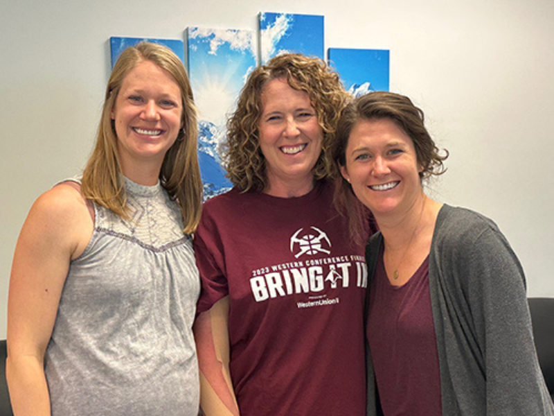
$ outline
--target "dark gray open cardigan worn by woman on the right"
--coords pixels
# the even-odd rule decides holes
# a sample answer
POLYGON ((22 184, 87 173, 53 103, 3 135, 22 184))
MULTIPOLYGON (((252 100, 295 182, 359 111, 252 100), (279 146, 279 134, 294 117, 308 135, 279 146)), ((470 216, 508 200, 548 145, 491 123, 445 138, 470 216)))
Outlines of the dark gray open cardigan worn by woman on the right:
MULTIPOLYGON (((368 241, 373 269, 380 233, 368 241)), ((429 253, 429 286, 444 416, 554 415, 537 361, 526 282, 492 220, 443 205, 429 253)), ((368 415, 377 409, 368 350, 368 415)))

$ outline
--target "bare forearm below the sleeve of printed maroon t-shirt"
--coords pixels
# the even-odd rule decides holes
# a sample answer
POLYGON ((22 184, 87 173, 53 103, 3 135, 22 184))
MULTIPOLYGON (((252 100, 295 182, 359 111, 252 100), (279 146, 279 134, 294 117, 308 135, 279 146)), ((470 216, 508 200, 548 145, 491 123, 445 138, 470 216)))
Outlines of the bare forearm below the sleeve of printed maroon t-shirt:
POLYGON ((194 326, 200 368, 200 407, 206 416, 238 416, 229 372, 229 296, 201 313, 194 326))

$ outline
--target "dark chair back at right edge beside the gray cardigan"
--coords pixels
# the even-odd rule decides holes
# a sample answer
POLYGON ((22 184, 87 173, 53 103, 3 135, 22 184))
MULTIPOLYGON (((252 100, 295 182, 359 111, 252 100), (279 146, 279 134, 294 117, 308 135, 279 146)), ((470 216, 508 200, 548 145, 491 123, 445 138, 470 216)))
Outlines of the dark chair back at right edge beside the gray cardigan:
POLYGON ((528 303, 539 364, 554 397, 554 297, 530 297, 528 303))

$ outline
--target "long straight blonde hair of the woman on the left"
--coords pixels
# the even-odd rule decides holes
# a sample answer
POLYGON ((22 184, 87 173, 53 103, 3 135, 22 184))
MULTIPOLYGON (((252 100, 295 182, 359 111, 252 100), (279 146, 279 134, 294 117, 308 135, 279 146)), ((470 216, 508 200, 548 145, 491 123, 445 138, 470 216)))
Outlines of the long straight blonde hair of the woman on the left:
POLYGON ((128 218, 126 193, 120 179, 117 136, 111 119, 111 110, 114 108, 125 76, 137 64, 144 61, 151 61, 168 71, 181 90, 184 127, 179 131, 175 143, 163 159, 159 180, 161 186, 179 203, 184 232, 193 233, 202 211, 202 180, 196 151, 198 137, 196 107, 183 63, 166 46, 141 42, 125 49, 118 58, 106 88, 96 146, 83 171, 82 193, 85 198, 111 209, 118 216, 128 218))

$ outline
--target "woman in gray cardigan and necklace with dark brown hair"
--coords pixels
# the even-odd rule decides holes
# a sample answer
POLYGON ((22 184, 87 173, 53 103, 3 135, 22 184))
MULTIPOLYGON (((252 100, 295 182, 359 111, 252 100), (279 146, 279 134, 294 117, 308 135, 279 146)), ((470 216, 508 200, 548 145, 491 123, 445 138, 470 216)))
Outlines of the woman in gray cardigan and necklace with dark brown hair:
POLYGON ((422 110, 372 92, 344 110, 343 202, 379 225, 367 245, 368 416, 553 415, 523 269, 497 225, 425 195, 445 172, 422 110))

